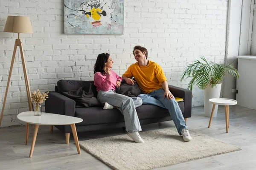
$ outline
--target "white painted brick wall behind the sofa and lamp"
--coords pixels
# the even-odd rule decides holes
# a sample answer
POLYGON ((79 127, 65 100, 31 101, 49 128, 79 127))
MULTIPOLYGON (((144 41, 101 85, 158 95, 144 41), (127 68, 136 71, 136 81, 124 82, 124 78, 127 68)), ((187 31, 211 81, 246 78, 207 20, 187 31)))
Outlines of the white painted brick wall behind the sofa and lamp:
MULTIPOLYGON (((135 45, 148 49, 148 59, 161 65, 170 85, 183 88, 188 83, 179 81, 184 67, 200 55, 224 62, 227 0, 125 0, 124 35, 63 34, 63 6, 63 0, 0 1, 0 31, 8 15, 30 17, 34 34, 20 37, 31 90, 53 90, 60 79, 92 80, 102 52, 111 53, 114 70, 122 75, 135 62, 135 45)), ((0 33, 1 108, 15 38, 0 33)), ((15 70, 21 67, 17 61, 15 70)), ((16 114, 28 110, 19 70, 19 78, 13 71, 2 126, 19 125, 16 114)), ((203 105, 203 92, 195 88, 193 95, 193 106, 203 105)))

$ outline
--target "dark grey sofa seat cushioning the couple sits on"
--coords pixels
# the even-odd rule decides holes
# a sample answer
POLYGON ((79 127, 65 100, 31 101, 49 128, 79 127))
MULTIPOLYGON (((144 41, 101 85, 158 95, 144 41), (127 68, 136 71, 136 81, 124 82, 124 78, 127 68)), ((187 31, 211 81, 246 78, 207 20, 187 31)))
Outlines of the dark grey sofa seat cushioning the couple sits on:
MULTIPOLYGON (((184 102, 178 102, 181 112, 184 113, 184 102)), ((160 108, 155 105, 141 105, 136 108, 138 117, 142 119, 154 119, 157 117, 170 116, 167 109, 160 108)), ((114 122, 124 122, 124 116, 118 109, 107 109, 103 108, 76 108, 76 117, 83 119, 84 121, 77 124, 81 125, 96 125, 114 122)))

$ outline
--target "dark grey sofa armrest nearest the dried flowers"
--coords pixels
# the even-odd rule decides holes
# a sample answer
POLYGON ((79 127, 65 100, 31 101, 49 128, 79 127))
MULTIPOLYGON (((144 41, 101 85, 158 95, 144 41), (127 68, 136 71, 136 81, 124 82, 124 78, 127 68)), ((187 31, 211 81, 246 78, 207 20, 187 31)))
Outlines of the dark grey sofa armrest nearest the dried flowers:
POLYGON ((56 91, 49 91, 45 101, 45 112, 75 116, 76 102, 56 91))

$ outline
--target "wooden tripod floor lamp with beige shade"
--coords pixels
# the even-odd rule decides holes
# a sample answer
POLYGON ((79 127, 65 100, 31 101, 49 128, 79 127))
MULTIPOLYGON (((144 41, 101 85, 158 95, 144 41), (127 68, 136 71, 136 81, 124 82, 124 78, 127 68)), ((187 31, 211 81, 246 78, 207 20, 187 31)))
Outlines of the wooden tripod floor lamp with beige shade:
MULTIPOLYGON (((28 78, 28 74, 26 71, 26 62, 25 62, 25 58, 24 58, 24 54, 23 54, 22 43, 20 40, 20 33, 33 34, 30 19, 29 19, 29 17, 8 16, 3 31, 18 33, 18 38, 15 40, 15 44, 14 44, 14 50, 13 50, 13 54, 12 54, 12 62, 11 62, 9 77, 8 77, 8 81, 7 81, 7 85, 6 85, 6 92, 5 92, 5 96, 4 96, 4 100, 3 100, 2 113, 1 113, 1 117, 0 117, 0 126, 2 123, 2 119, 3 119, 3 112, 4 112, 6 97, 7 97, 7 93, 8 93, 8 89, 9 89, 9 85, 10 85, 10 79, 11 79, 11 75, 12 75, 12 68, 13 68, 13 63, 15 60, 17 46, 20 47, 20 56, 21 56, 21 60, 22 60, 22 67, 23 67, 24 79, 25 79, 25 84, 26 84, 26 93, 27 93, 27 98, 28 98, 28 103, 29 103, 29 111, 34 110, 33 105, 32 105, 32 99, 31 99, 29 78, 28 78)), ((26 124, 26 144, 28 142, 28 132, 29 132, 29 124, 27 123, 26 124)))

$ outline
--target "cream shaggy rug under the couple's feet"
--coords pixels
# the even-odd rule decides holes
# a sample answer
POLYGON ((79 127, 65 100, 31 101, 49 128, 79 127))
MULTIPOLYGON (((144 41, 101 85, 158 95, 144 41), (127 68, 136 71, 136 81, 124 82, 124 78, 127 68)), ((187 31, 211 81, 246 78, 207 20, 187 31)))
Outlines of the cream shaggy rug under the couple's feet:
POLYGON ((82 149, 116 170, 149 170, 241 150, 192 130, 189 133, 190 142, 183 142, 175 127, 140 132, 143 144, 126 134, 79 142, 82 149))

